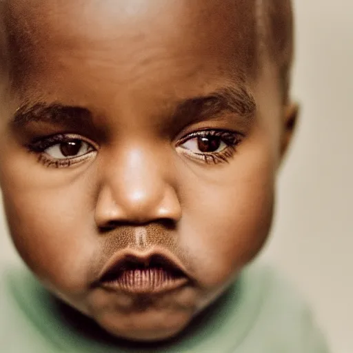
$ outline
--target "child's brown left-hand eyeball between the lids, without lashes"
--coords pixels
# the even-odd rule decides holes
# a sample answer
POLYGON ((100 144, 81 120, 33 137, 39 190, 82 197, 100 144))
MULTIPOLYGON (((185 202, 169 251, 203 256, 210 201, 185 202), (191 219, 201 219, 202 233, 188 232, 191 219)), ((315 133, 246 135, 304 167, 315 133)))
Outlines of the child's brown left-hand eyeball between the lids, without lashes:
POLYGON ((63 141, 52 145, 43 152, 48 154, 53 159, 68 159, 73 157, 81 157, 93 150, 93 146, 89 143, 79 139, 73 139, 71 141, 63 141))

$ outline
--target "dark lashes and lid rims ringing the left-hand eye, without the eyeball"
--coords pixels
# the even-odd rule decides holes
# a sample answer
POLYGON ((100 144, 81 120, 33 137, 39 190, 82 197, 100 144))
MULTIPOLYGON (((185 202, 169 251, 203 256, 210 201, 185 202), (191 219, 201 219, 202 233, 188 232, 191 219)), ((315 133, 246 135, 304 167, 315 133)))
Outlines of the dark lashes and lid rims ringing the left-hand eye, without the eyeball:
POLYGON ((35 139, 26 146, 30 153, 38 154, 38 161, 49 168, 68 168, 72 165, 79 164, 90 157, 91 152, 97 151, 97 147, 92 141, 83 138, 77 134, 56 134, 49 137, 41 137, 35 139), (68 157, 65 159, 55 159, 54 157, 48 156, 46 150, 53 147, 54 145, 60 145, 61 143, 68 143, 72 141, 82 141, 92 147, 92 151, 82 154, 79 157, 68 157))

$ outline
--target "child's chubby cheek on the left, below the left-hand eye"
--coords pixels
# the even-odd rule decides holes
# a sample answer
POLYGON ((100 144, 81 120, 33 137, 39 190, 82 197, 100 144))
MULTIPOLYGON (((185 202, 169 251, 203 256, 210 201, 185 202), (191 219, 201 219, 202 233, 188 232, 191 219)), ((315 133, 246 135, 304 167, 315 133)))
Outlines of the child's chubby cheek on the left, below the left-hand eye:
POLYGON ((76 184, 66 188, 3 188, 14 245, 31 270, 50 288, 80 295, 87 283, 89 259, 97 248, 88 200, 76 184))

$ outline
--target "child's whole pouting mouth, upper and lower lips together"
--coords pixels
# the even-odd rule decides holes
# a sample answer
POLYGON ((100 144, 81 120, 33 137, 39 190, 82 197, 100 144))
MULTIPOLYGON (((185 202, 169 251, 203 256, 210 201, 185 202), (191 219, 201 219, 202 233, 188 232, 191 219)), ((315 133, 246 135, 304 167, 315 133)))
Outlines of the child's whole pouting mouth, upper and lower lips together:
POLYGON ((129 294, 159 294, 190 282, 183 263, 167 250, 117 252, 99 276, 99 286, 129 294))

